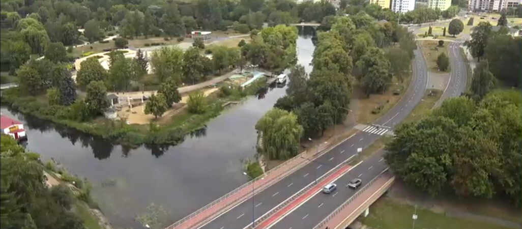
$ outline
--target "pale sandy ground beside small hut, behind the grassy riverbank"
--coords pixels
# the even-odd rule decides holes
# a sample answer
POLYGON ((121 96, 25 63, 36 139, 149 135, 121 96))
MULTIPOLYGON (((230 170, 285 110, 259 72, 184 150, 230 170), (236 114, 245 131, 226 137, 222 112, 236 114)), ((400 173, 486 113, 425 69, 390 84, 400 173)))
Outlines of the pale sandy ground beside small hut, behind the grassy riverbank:
MULTIPOLYGON (((211 88, 204 90, 203 93, 205 94, 205 97, 207 97, 212 92, 217 91, 219 88, 211 88)), ((159 121, 162 122, 163 120, 166 120, 173 115, 181 112, 187 103, 188 95, 185 95, 181 98, 181 101, 174 106, 172 106, 171 109, 167 110, 160 118, 159 121)), ((154 115, 151 114, 145 114, 145 105, 140 104, 137 106, 133 106, 132 109, 128 109, 128 106, 125 105, 121 111, 118 111, 118 117, 126 117, 127 122, 129 124, 148 124, 152 120, 154 120, 154 115)))

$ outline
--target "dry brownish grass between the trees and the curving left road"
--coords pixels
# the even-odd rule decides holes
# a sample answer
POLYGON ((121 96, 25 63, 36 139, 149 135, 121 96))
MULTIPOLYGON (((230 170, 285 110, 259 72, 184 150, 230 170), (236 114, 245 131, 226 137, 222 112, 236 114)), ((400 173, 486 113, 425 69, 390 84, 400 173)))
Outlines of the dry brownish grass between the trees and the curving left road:
POLYGON ((383 94, 371 94, 370 98, 366 96, 364 90, 359 87, 358 83, 353 87, 352 98, 359 100, 358 107, 355 112, 357 115, 355 119, 360 124, 370 124, 383 114, 386 114, 399 100, 402 98, 411 82, 411 71, 406 74, 402 82, 396 77, 392 79, 392 86, 388 88, 383 94), (394 91, 399 89, 400 94, 394 95, 394 91), (372 114, 375 107, 384 105, 383 109, 377 114, 372 114))

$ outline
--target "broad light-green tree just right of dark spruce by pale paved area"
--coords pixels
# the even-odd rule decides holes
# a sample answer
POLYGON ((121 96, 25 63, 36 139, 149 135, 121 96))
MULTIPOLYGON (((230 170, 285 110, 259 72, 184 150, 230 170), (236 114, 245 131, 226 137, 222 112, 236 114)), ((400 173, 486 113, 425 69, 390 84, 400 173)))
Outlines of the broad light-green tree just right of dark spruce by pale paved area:
POLYGON ((174 77, 177 83, 181 83, 183 51, 177 47, 162 47, 155 50, 150 55, 150 65, 160 82, 168 77, 174 77))

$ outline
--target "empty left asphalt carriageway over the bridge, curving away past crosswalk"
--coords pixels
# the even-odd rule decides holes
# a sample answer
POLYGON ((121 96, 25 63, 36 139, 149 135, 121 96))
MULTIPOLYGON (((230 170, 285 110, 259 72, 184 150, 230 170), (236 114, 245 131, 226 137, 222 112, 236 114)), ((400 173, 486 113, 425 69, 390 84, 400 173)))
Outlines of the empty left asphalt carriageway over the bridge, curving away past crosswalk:
MULTIPOLYGON (((388 127, 395 126, 411 112, 423 97, 427 82, 426 66, 420 49, 414 52, 416 57, 413 61, 413 78, 404 97, 385 115, 377 119, 374 124, 388 127)), ((350 156, 357 152, 357 148, 366 148, 379 137, 381 136, 359 131, 351 138, 316 158, 313 162, 284 177, 263 191, 256 193, 254 200, 252 198, 245 200, 199 228, 241 229, 251 226, 253 218, 257 219, 277 207, 278 204, 314 182, 315 177, 322 176, 333 167, 349 159, 350 156)))

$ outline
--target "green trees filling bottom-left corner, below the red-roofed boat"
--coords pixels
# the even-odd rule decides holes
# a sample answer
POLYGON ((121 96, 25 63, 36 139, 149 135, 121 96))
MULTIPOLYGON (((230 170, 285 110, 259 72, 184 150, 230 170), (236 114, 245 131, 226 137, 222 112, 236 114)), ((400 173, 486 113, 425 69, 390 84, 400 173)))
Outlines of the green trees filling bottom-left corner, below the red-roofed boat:
POLYGON ((2 134, 0 177, 0 227, 41 229, 83 229, 73 212, 74 197, 69 187, 48 188, 39 155, 25 152, 13 138, 2 134))

